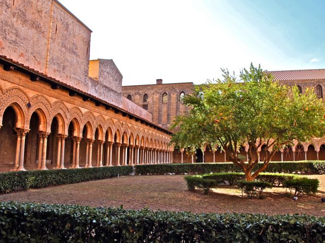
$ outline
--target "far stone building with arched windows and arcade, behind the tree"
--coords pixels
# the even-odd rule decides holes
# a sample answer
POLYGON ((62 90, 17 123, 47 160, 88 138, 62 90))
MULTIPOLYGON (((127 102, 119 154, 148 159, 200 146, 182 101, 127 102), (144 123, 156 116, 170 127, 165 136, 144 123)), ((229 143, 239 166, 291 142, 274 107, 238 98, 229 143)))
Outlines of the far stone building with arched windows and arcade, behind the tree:
MULTIPOLYGON (((306 89, 313 88, 317 97, 323 99, 323 90, 325 89, 325 69, 310 69, 310 70, 282 70, 270 71, 276 80, 281 84, 289 86, 297 86, 301 93, 306 89)), ((152 118, 155 123, 160 124, 165 128, 169 128, 173 119, 186 112, 187 107, 180 102, 180 97, 183 94, 189 94, 194 88, 193 83, 176 83, 163 84, 161 79, 156 80, 155 85, 137 85, 123 86, 122 93, 125 98, 132 100, 139 106, 144 107, 152 113, 152 118), (167 99, 164 97, 168 97, 167 99), (151 98, 151 99, 150 99, 151 98)), ((248 148, 242 147, 241 154, 247 156, 248 148)), ((264 158, 261 148, 254 152, 254 156, 264 158)), ((173 152, 174 162, 225 162, 225 154, 220 149, 213 149, 207 144, 203 151, 197 150, 196 156, 193 158, 184 150, 175 150, 173 152)), ((287 146, 277 152, 272 158, 273 161, 288 161, 288 160, 325 160, 325 140, 324 138, 314 138, 307 143, 295 141, 293 146, 287 146)))

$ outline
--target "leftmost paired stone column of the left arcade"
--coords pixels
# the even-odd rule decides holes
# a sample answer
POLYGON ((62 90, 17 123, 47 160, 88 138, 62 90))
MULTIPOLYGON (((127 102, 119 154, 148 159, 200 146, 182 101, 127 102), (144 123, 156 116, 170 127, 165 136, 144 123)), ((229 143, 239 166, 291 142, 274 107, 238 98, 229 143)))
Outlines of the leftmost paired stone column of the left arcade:
POLYGON ((16 159, 15 168, 11 171, 25 171, 24 168, 24 153, 25 153, 25 138, 29 129, 15 128, 17 133, 17 147, 16 147, 16 159))

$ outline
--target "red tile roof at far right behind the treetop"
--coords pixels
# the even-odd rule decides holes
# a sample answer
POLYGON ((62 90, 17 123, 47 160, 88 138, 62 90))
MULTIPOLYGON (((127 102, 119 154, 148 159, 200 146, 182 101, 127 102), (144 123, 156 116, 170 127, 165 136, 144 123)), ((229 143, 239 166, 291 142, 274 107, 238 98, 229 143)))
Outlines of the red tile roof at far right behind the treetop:
POLYGON ((278 81, 325 79, 325 69, 268 71, 268 73, 272 73, 278 81))

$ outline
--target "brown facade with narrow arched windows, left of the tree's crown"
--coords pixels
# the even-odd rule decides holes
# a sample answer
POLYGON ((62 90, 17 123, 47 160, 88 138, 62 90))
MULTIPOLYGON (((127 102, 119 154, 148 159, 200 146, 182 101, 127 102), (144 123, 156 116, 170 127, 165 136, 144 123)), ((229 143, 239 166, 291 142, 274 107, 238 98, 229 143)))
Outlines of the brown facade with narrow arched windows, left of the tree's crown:
POLYGON ((187 107, 183 105, 180 97, 182 94, 190 94, 194 85, 193 83, 163 84, 162 79, 157 79, 156 82, 156 85, 122 86, 122 93, 125 98, 128 97, 151 112, 154 123, 169 128, 177 115, 186 113, 187 107))

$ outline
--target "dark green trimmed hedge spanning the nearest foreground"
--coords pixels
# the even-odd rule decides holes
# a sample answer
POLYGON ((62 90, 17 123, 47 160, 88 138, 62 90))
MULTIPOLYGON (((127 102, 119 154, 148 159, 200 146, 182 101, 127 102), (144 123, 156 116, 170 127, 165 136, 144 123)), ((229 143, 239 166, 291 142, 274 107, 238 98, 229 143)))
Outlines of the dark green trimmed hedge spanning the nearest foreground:
POLYGON ((0 203, 0 242, 323 242, 325 218, 0 203))

